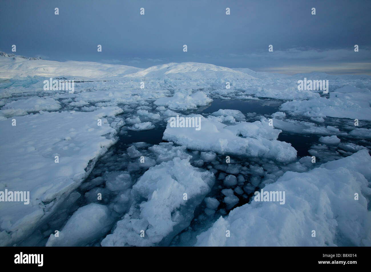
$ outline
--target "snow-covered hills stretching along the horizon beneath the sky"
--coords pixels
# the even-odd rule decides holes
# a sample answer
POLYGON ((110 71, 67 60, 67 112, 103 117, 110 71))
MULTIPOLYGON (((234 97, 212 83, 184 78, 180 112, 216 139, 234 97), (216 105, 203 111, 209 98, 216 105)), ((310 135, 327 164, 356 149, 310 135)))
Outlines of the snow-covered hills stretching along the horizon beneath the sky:
POLYGON ((248 68, 228 68, 209 63, 184 62, 167 63, 147 69, 121 64, 103 64, 97 62, 57 62, 43 60, 40 57, 24 57, 0 52, 0 78, 14 76, 65 76, 76 80, 119 80, 119 79, 203 79, 203 80, 298 80, 304 77, 330 80, 369 80, 366 75, 328 75, 325 73, 307 73, 288 76, 286 74, 255 72, 248 68))

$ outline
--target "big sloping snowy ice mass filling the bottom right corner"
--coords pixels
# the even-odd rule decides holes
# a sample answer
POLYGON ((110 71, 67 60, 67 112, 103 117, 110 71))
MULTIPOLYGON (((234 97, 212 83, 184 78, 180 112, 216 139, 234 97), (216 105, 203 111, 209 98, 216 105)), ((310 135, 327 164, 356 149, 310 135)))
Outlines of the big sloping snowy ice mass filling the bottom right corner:
POLYGON ((197 236, 196 245, 371 246, 370 179, 371 157, 366 150, 307 173, 286 172, 263 188, 285 191, 284 205, 252 200, 220 217, 197 236))

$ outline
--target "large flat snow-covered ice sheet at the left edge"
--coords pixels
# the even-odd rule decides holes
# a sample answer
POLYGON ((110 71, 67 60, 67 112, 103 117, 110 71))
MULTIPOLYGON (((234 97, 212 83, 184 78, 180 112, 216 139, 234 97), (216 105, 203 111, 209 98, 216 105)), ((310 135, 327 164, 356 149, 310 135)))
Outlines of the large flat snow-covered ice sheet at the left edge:
POLYGON ((102 117, 121 112, 41 112, 13 117, 16 126, 12 118, 0 121, 0 190, 30 191, 29 205, 0 202, 0 245, 24 239, 78 188, 89 162, 115 143, 116 130, 102 117))

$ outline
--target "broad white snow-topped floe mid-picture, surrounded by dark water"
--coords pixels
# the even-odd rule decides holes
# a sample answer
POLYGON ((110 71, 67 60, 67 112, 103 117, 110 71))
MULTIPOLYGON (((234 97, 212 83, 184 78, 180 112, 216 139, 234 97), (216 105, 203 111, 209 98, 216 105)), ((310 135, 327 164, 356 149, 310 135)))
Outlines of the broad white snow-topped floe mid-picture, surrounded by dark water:
POLYGON ((190 127, 171 127, 168 122, 162 139, 173 141, 177 145, 185 145, 189 149, 226 155, 263 156, 274 158, 279 162, 296 158, 296 150, 291 144, 277 140, 281 130, 273 129, 266 119, 227 126, 218 122, 216 117, 211 116, 210 119, 201 115, 194 115, 194 117, 201 118, 200 130, 190 127))

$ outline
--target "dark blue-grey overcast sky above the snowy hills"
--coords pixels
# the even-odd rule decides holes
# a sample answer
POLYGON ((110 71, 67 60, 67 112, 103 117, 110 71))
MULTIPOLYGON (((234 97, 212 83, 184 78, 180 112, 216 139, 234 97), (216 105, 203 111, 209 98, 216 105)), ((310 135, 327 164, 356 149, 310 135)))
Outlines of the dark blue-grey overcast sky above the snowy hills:
POLYGON ((370 11, 370 0, 0 0, 0 51, 141 68, 201 62, 371 75, 370 11))

